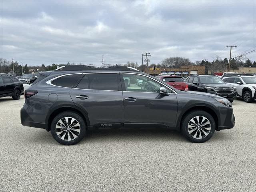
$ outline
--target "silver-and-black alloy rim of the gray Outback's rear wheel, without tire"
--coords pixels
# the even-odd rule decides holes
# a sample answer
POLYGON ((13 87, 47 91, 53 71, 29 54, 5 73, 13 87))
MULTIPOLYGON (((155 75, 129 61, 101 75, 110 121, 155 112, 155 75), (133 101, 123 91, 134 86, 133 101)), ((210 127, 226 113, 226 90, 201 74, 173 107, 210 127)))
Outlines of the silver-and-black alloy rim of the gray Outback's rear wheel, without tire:
POLYGON ((55 127, 56 134, 64 141, 71 141, 80 134, 80 124, 78 120, 72 117, 61 118, 55 127))

